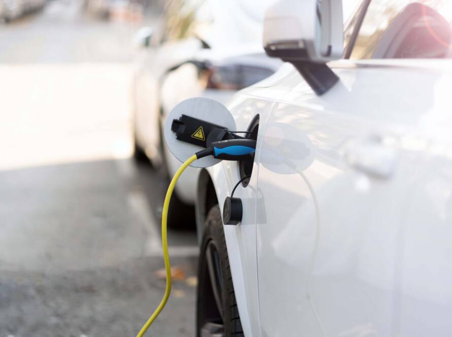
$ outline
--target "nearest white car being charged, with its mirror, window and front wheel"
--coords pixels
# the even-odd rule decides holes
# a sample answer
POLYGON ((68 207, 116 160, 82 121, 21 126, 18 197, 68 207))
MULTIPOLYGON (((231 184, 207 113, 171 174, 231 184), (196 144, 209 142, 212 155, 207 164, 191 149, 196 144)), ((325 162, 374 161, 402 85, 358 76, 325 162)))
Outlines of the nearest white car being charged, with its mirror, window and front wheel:
POLYGON ((254 160, 198 177, 198 336, 452 335, 452 2, 340 4, 266 12, 288 63, 228 105, 254 160))

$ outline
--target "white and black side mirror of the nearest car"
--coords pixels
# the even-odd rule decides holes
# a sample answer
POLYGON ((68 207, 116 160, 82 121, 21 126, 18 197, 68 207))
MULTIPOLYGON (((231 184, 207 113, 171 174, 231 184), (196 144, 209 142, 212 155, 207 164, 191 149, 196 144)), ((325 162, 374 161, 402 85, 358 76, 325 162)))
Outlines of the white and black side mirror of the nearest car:
POLYGON ((294 64, 317 94, 327 92, 339 80, 326 63, 342 57, 342 1, 280 0, 265 13, 263 45, 294 64))

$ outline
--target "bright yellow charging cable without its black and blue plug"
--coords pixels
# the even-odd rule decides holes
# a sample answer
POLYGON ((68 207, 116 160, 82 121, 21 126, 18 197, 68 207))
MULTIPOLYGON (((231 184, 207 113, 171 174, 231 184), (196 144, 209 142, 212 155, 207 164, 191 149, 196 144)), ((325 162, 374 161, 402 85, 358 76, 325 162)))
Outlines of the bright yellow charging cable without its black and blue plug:
POLYGON ((163 258, 165 260, 165 272, 167 277, 167 285, 165 289, 165 295, 162 298, 162 301, 158 305, 157 309, 155 309, 154 313, 149 317, 147 322, 143 325, 140 332, 138 332, 137 337, 142 337, 146 330, 151 326, 152 322, 157 318, 160 312, 165 308, 167 304, 168 297, 170 297, 171 293, 171 265, 170 265, 170 255, 168 253, 168 237, 167 237, 167 219, 168 219, 168 208, 170 207, 171 195, 173 194, 174 186, 176 186, 176 182, 179 179, 182 172, 184 172, 185 168, 187 168, 193 161, 198 159, 196 154, 193 154, 190 158, 185 160, 185 162, 179 167, 173 179, 171 180, 170 186, 168 187, 167 195, 165 196, 165 202, 163 204, 162 211, 162 245, 163 245, 163 258))

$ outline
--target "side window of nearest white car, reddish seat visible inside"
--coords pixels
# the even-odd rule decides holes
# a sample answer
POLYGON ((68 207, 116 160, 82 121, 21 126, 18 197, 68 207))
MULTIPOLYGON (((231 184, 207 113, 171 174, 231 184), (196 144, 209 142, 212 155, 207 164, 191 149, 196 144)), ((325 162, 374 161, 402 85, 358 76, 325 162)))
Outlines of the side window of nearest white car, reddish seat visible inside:
POLYGON ((450 57, 451 18, 450 0, 372 0, 350 58, 450 57))

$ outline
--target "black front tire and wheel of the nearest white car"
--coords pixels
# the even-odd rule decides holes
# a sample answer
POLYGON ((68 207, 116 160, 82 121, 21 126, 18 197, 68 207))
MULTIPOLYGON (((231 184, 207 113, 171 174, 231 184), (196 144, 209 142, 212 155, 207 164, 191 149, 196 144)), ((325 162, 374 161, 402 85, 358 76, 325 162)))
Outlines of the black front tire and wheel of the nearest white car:
POLYGON ((209 211, 198 265, 197 337, 243 337, 218 205, 209 211))

